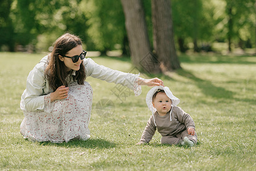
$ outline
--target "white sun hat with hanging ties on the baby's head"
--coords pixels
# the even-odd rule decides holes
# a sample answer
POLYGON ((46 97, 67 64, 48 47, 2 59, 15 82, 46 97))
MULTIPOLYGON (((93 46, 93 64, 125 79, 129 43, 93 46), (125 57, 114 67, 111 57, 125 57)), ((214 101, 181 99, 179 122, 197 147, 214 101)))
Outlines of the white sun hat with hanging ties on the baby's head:
MULTIPOLYGON (((149 110, 151 110, 151 112, 152 112, 154 121, 155 121, 154 113, 156 112, 156 108, 153 107, 152 97, 157 92, 157 90, 159 90, 159 89, 164 90, 166 96, 168 96, 170 98, 170 100, 172 100, 172 109, 173 109, 174 106, 176 106, 180 103, 180 99, 175 97, 168 87, 156 86, 156 87, 151 88, 147 93, 146 103, 148 105, 149 110)), ((170 121, 172 121, 172 117, 171 117, 172 109, 170 110, 170 121)), ((156 121, 155 121, 155 125, 156 125, 156 121)))

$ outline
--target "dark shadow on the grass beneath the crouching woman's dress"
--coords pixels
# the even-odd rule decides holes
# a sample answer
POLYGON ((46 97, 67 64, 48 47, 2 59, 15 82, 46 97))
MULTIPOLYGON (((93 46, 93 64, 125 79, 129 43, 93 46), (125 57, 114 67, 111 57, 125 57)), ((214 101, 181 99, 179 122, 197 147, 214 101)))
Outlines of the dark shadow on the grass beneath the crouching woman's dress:
POLYGON ((66 148, 98 148, 98 149, 104 149, 104 148, 113 148, 116 146, 115 143, 111 143, 109 141, 103 140, 103 139, 88 139, 86 141, 82 140, 71 140, 68 141, 68 143, 51 143, 48 142, 42 142, 40 145, 43 146, 60 146, 60 147, 66 147, 66 148))

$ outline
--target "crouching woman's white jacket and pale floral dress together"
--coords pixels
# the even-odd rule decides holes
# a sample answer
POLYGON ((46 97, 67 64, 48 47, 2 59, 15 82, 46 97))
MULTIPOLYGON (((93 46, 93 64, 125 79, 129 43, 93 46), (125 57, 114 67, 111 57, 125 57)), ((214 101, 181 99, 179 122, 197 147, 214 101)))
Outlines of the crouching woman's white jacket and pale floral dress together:
MULTIPOLYGON (((27 78, 27 88, 21 100, 21 109, 25 115, 21 123, 21 134, 31 141, 52 143, 72 139, 87 140, 90 138, 88 124, 92 109, 92 87, 87 82, 79 85, 71 80, 67 99, 51 102, 52 91, 43 75, 46 66, 47 63, 39 63, 27 78)), ((88 58, 84 60, 84 66, 87 76, 122 84, 133 89, 135 95, 141 92, 137 83, 139 75, 111 70, 88 58)))

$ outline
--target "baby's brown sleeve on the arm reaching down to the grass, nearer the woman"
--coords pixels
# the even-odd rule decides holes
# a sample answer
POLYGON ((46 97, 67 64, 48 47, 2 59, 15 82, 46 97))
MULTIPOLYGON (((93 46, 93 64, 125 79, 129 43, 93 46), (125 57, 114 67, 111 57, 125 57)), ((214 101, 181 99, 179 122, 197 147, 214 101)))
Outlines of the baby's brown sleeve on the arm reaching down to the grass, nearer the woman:
POLYGON ((143 131, 143 134, 140 139, 140 143, 149 143, 149 141, 152 140, 153 135, 155 135, 155 132, 156 132, 156 126, 153 120, 153 116, 151 116, 143 131))

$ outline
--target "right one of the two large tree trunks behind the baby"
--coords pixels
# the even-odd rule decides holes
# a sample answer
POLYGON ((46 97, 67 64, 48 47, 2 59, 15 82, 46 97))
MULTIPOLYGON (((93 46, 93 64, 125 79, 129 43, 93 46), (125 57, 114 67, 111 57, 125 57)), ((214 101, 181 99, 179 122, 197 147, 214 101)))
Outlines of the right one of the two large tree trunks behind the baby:
POLYGON ((153 47, 161 62, 162 71, 181 68, 174 46, 170 1, 152 0, 153 47))

